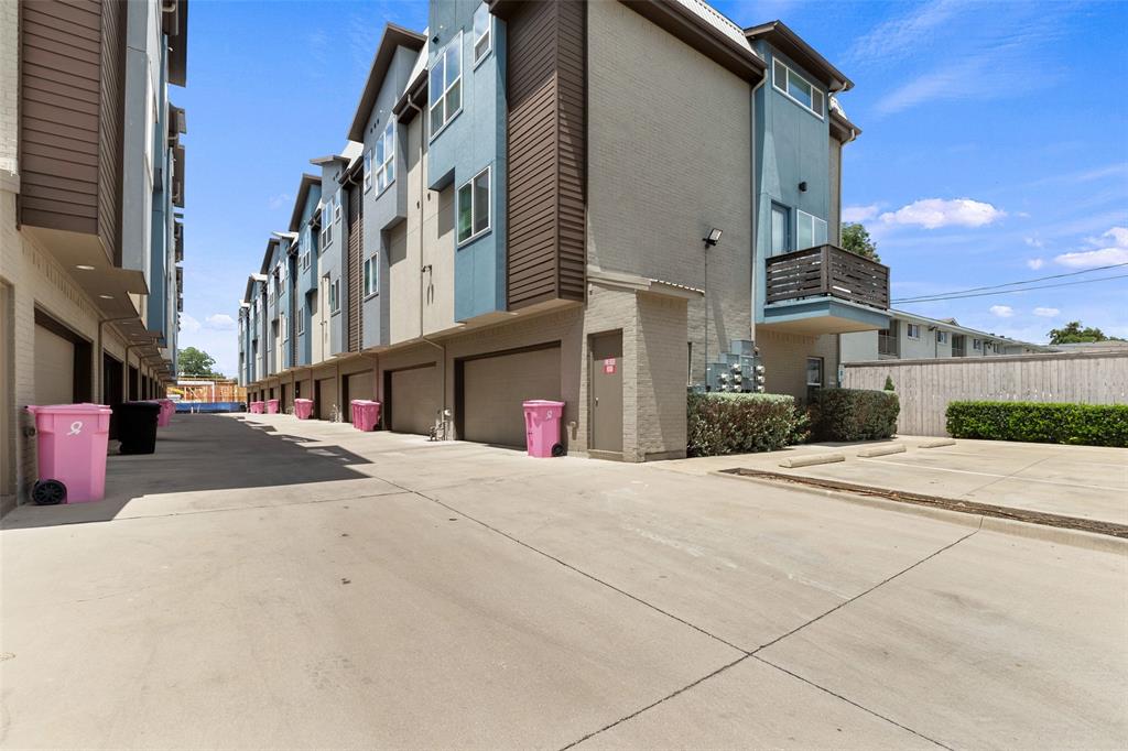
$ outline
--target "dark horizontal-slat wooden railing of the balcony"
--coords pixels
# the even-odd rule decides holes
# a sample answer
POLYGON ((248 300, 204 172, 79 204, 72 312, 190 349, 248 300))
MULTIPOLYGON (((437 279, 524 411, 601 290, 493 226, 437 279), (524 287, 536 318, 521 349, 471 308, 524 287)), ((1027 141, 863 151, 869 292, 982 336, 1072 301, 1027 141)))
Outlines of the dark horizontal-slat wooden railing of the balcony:
POLYGON ((832 245, 767 259, 767 304, 835 297, 889 309, 889 267, 832 245))

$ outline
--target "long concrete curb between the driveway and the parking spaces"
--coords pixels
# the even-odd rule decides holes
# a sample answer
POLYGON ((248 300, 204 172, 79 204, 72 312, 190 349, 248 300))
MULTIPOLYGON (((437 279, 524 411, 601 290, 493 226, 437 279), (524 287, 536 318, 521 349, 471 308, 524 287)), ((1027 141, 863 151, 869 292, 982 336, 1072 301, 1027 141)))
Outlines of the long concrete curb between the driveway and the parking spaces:
POLYGON ((935 519, 937 521, 946 521, 953 524, 959 524, 961 527, 978 528, 990 532, 1001 532, 1003 534, 1013 534, 1014 537, 1024 537, 1028 539, 1041 540, 1043 542, 1068 545, 1070 547, 1083 548, 1086 550, 1099 550, 1102 553, 1116 553, 1119 555, 1128 555, 1128 540, 1118 537, 1112 537, 1110 534, 1096 534, 1094 532, 1085 532, 1082 530, 1067 529, 1064 527, 1049 527, 1046 524, 1036 524, 1033 522, 1017 521, 1014 519, 999 519, 997 516, 986 516, 982 514, 976 514, 962 511, 951 511, 949 509, 922 506, 915 503, 890 501, 889 498, 861 495, 856 493, 848 493, 845 491, 831 491, 828 488, 813 487, 809 485, 779 483, 763 477, 749 477, 747 475, 732 475, 722 470, 713 470, 710 474, 717 477, 728 477, 729 479, 744 480, 747 483, 756 483, 757 485, 765 485, 767 487, 774 487, 774 488, 791 487, 802 493, 821 495, 823 497, 835 498, 837 501, 846 501, 847 503, 854 503, 860 506, 869 506, 871 509, 884 509, 887 511, 896 511, 900 513, 914 514, 916 516, 926 516, 928 519, 935 519))

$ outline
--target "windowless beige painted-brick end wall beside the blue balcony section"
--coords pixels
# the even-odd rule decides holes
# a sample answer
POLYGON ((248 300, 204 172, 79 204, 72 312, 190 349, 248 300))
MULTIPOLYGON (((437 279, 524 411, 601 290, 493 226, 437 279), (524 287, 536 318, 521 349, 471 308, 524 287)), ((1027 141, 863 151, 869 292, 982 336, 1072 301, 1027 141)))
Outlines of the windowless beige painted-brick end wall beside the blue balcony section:
MULTIPOLYGON (((754 338, 748 82, 626 6, 590 2, 588 106, 588 263, 707 285, 713 357, 754 338), (724 235, 706 284, 713 227, 724 235)), ((689 303, 687 335, 703 379, 704 300, 689 303)))

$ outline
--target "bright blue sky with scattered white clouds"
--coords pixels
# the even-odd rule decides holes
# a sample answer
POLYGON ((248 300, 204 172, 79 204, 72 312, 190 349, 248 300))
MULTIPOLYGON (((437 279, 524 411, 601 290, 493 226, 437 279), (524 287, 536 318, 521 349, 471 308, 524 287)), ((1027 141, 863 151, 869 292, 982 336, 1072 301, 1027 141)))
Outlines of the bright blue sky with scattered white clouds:
MULTIPOLYGON (((1128 3, 714 6, 783 20, 854 80, 840 101, 864 132, 843 204, 895 299, 1128 262, 1128 3)), ((188 87, 173 91, 188 114, 180 346, 228 373, 247 274, 309 159, 343 145, 386 20, 422 29, 426 5, 192 5, 188 87)), ((1075 319, 1128 337, 1128 279, 898 307, 1029 341, 1075 319)))

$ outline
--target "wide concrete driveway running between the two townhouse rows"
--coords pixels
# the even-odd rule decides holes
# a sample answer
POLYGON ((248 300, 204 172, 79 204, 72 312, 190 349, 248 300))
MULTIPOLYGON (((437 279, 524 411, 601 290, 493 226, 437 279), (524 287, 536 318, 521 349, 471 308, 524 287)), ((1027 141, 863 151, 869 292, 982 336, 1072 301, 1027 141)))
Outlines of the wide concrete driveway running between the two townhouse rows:
POLYGON ((1128 557, 177 416, 0 533, 3 748, 1123 748, 1128 557))

